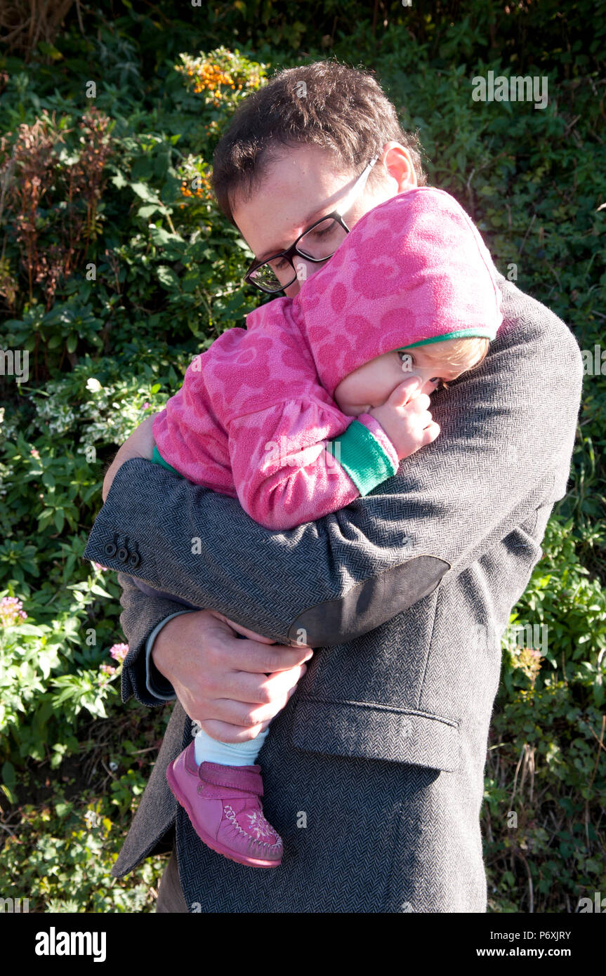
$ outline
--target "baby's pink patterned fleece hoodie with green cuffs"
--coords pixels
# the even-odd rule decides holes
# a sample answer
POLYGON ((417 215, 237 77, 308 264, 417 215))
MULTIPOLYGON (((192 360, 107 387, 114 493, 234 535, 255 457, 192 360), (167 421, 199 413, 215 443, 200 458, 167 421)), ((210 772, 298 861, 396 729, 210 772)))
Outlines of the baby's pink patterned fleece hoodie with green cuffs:
POLYGON ((497 270, 443 190, 400 193, 365 214, 294 299, 255 309, 196 356, 156 417, 154 461, 233 498, 268 529, 350 504, 398 458, 369 414, 341 412, 345 376, 404 346, 494 339, 497 270))

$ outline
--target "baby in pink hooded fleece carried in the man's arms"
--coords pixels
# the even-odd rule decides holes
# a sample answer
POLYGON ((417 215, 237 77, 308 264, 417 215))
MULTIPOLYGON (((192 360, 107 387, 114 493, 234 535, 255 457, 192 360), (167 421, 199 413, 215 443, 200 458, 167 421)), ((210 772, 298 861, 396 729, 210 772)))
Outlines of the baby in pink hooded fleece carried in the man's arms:
MULTIPOLYGON (((135 431, 130 456, 237 498, 275 531, 337 511, 438 436, 425 394, 486 355, 502 322, 496 275, 452 196, 398 194, 295 298, 262 305, 197 356, 153 420, 153 451, 135 431)), ((200 730, 166 774, 198 836, 258 868, 282 858, 255 764, 269 731, 232 744, 200 730)))

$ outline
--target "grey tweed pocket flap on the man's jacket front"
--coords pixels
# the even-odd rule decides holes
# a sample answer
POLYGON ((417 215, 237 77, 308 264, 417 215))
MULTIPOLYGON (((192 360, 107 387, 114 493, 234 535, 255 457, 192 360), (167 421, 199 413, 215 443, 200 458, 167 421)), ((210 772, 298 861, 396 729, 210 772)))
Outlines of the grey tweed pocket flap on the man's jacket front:
POLYGON ((441 715, 364 702, 300 698, 293 743, 307 752, 407 762, 452 773, 459 768, 459 723, 441 715))

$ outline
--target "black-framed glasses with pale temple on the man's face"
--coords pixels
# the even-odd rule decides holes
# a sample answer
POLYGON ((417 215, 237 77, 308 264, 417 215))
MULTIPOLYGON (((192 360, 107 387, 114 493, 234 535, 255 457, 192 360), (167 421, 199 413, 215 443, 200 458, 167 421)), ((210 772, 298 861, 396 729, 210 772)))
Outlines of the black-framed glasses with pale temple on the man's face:
POLYGON ((379 156, 375 156, 370 160, 336 210, 303 230, 303 234, 300 234, 286 251, 271 255, 263 262, 253 262, 243 280, 250 285, 255 285, 262 292, 272 295, 274 292, 281 292, 288 288, 299 278, 293 262, 295 255, 314 264, 321 264, 332 258, 349 233, 349 227, 343 221, 343 214, 349 210, 364 189, 370 171, 378 159, 379 156))

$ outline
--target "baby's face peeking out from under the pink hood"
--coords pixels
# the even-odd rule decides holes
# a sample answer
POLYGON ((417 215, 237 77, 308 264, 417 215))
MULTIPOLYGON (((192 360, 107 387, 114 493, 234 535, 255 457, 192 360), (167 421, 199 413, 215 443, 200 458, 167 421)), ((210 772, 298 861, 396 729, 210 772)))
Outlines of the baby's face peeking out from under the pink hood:
POLYGON ((419 377, 419 393, 428 396, 441 380, 456 380, 463 372, 458 367, 440 363, 435 357, 430 358, 424 346, 384 352, 349 373, 335 389, 333 398, 343 414, 358 417, 368 413, 371 407, 384 404, 395 387, 411 376, 419 377))

